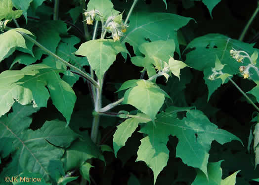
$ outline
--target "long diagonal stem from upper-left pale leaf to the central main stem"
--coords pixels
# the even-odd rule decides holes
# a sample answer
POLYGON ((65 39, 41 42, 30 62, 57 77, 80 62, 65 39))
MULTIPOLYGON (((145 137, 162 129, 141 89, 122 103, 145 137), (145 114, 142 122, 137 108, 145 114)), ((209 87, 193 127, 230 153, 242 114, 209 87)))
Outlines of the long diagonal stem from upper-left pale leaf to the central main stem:
MULTIPOLYGON (((19 31, 17 31, 19 32, 19 31)), ((69 64, 68 62, 66 62, 64 59, 60 58, 59 56, 55 55, 54 53, 52 53, 51 51, 49 51, 47 48, 45 48, 42 44, 40 44, 39 42, 37 42, 35 39, 33 39, 32 37, 28 36, 27 34, 23 33, 23 32, 19 32, 23 37, 27 38, 28 40, 30 40, 31 42, 33 42, 35 45, 37 45, 38 47, 40 47, 43 51, 45 51, 47 54, 49 54, 50 56, 54 57, 55 59, 61 61, 62 63, 64 63, 66 66, 70 67, 70 69, 73 69, 77 72, 79 72, 81 75, 83 75, 89 82, 91 82, 96 88, 100 88, 99 84, 88 74, 86 74, 85 72, 81 71, 80 69, 78 69, 77 67, 69 64)))

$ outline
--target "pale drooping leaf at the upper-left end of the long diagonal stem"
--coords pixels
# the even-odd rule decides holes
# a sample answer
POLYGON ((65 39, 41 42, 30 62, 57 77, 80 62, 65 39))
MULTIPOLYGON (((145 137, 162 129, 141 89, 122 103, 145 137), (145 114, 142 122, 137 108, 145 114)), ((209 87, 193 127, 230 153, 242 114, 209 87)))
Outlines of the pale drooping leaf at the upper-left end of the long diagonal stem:
POLYGON ((31 32, 23 28, 11 29, 3 34, 0 34, 0 62, 9 57, 17 47, 27 49, 25 39, 17 31, 33 36, 31 32))

